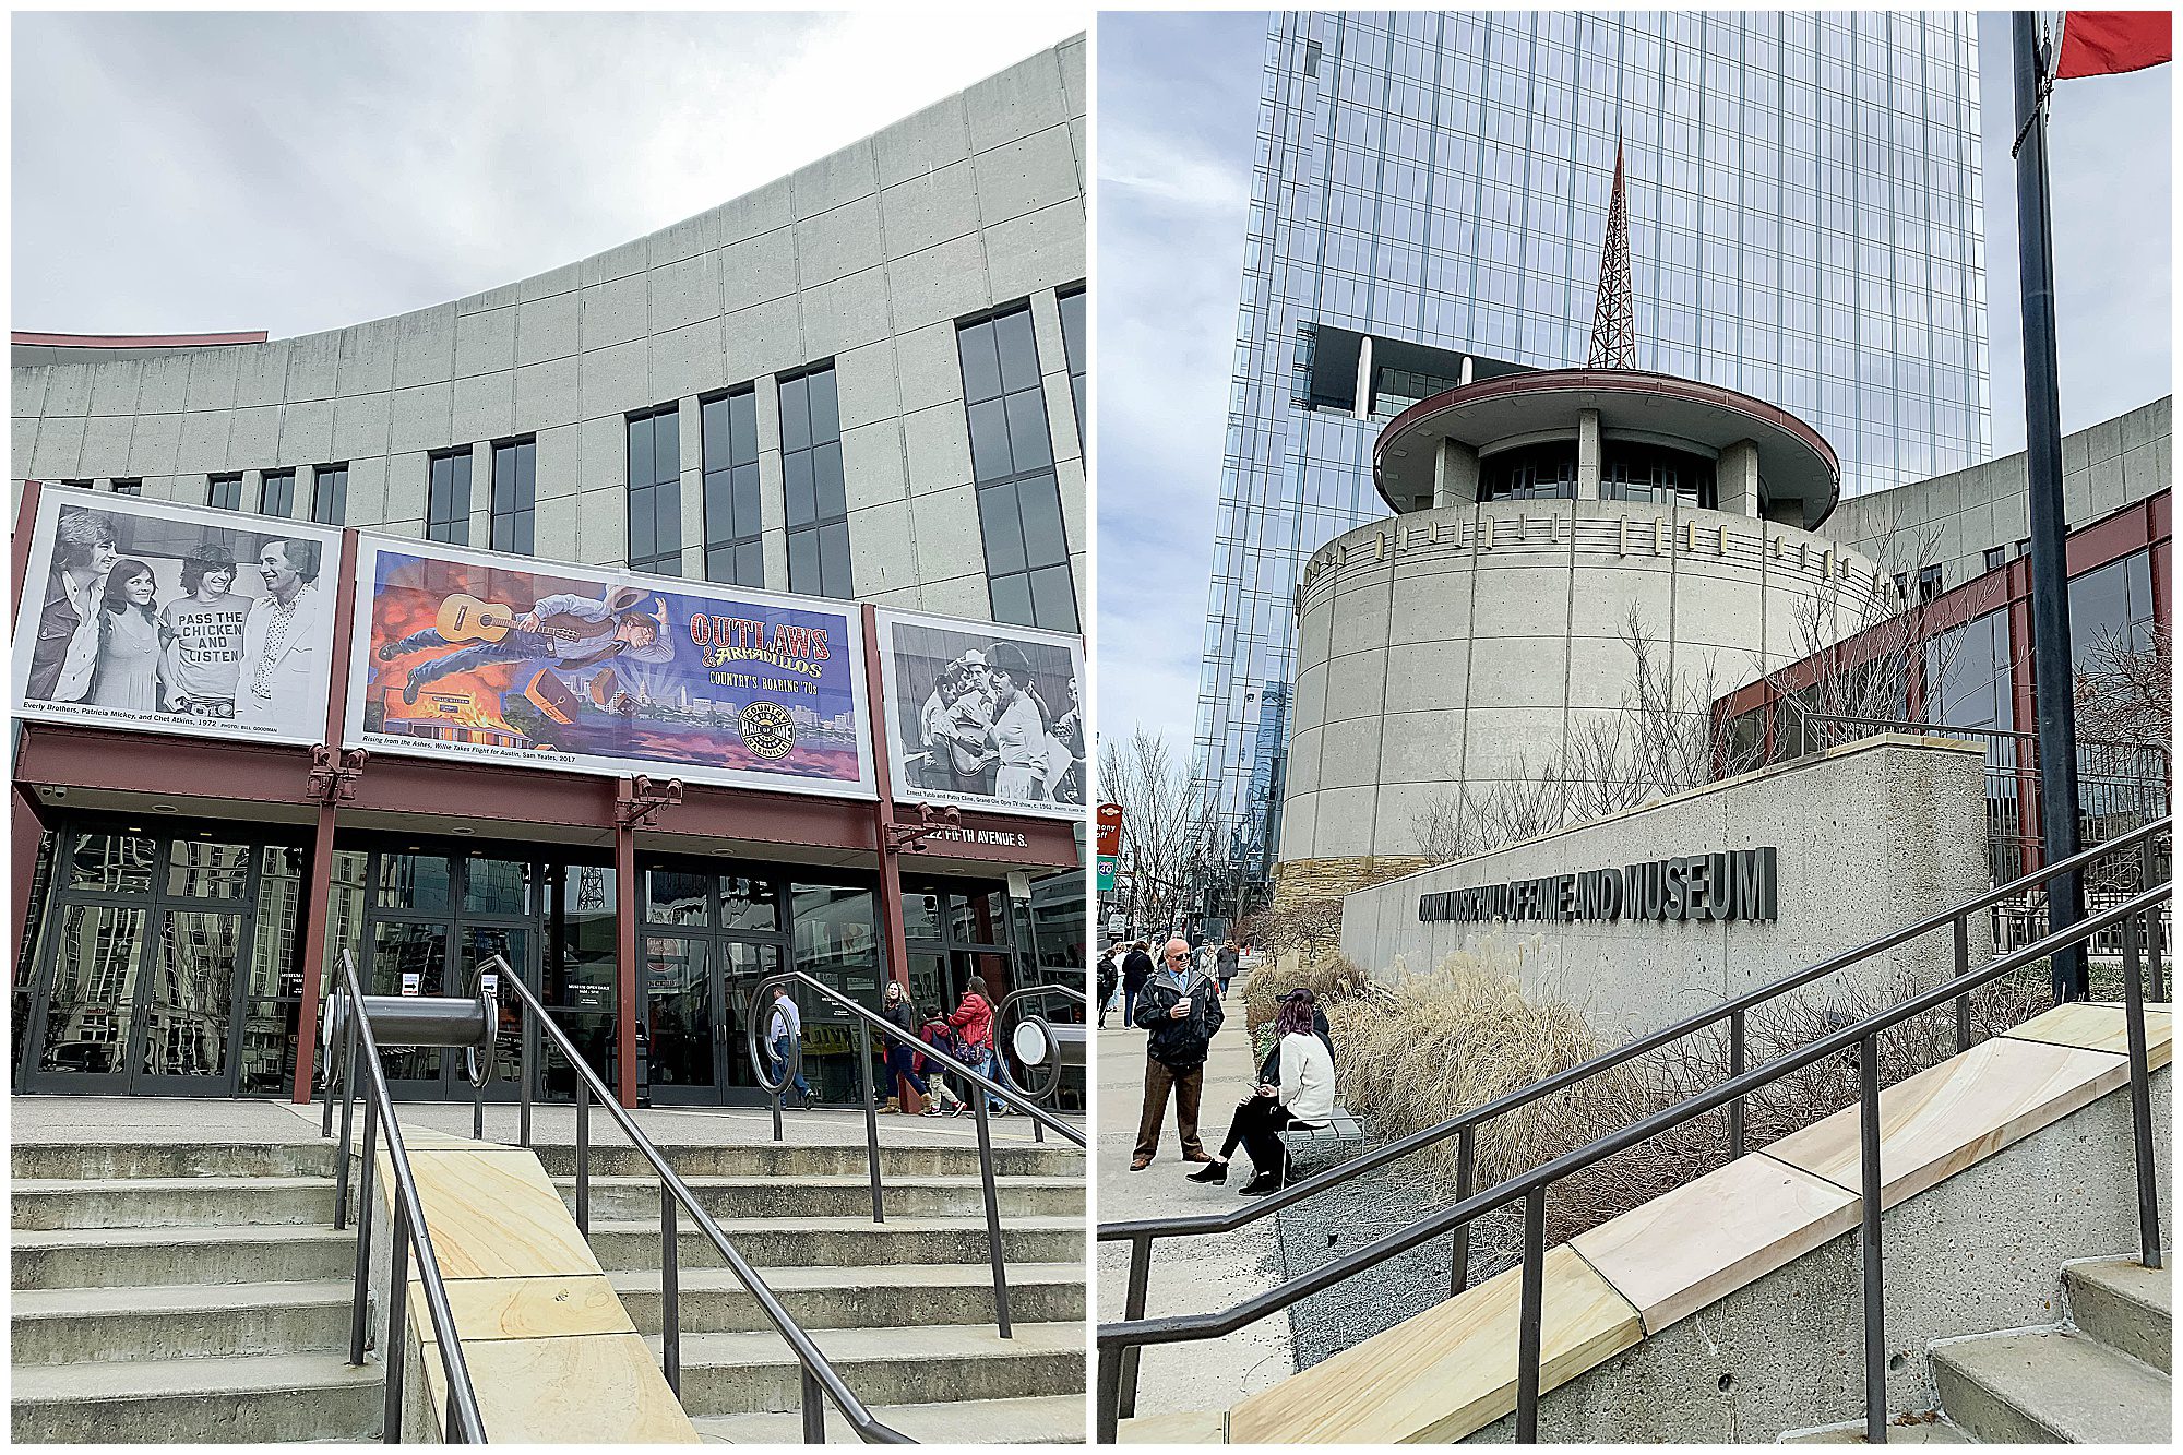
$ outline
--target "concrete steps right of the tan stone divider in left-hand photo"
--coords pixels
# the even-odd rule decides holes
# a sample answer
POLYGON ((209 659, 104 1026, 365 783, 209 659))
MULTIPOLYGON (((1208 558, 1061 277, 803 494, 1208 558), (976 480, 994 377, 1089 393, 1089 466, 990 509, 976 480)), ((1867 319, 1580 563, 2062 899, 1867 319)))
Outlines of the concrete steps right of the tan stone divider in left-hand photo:
MULTIPOLYGON (((871 1221, 862 1147, 661 1147, 738 1252, 875 1418, 919 1442, 1081 1442, 1083 1154, 995 1147, 1013 1335, 993 1324, 974 1147, 882 1147, 871 1221)), ((574 1204, 574 1156, 541 1147, 574 1204)), ((707 1440, 801 1442, 799 1365, 712 1243, 679 1221, 681 1396, 707 1440)), ((592 1149, 592 1250, 659 1344, 659 1184, 627 1147, 592 1149)), ((854 1440, 827 1407, 827 1438, 854 1440)))

